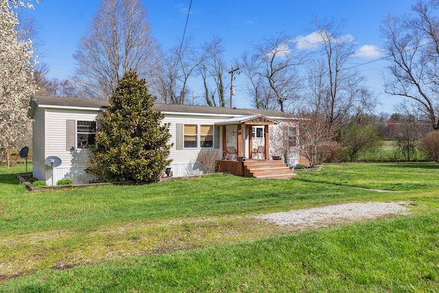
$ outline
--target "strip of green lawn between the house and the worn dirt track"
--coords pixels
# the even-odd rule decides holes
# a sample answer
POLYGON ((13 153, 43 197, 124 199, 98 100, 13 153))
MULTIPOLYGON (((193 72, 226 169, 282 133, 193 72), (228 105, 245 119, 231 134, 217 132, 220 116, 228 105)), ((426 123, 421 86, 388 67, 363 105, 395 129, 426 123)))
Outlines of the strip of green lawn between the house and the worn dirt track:
POLYGON ((266 213, 379 198, 368 191, 299 180, 257 180, 215 174, 137 186, 52 190, 19 187, 0 198, 0 235, 73 229, 93 231, 114 223, 241 213, 266 213), (25 195, 25 196, 23 196, 25 195))

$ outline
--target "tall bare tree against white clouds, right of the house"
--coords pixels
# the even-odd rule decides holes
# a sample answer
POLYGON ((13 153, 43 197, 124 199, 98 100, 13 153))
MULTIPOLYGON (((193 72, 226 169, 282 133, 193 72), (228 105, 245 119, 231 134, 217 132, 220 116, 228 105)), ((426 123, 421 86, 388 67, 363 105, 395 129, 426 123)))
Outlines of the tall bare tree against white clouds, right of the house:
POLYGON ((311 101, 327 117, 327 123, 343 124, 357 102, 364 97, 364 77, 347 68, 355 54, 356 43, 352 36, 342 34, 342 23, 316 20, 316 34, 322 58, 309 69, 311 101))

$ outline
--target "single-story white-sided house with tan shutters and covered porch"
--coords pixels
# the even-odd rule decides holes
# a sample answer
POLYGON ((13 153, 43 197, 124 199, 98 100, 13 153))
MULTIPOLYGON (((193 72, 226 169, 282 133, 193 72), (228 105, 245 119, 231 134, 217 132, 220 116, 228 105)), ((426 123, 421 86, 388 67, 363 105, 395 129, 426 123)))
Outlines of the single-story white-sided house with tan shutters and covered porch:
MULTIPOLYGON (((94 144, 99 128, 96 119, 107 106, 108 101, 99 99, 32 97, 28 117, 34 120, 34 177, 48 185, 62 178, 71 178, 75 184, 94 180, 93 174, 85 169, 91 155, 90 145, 94 144)), ((276 110, 176 104, 154 104, 153 108, 164 113, 163 123, 170 123, 169 143, 174 145, 169 167, 173 176, 178 177, 202 174, 198 156, 204 149, 218 150, 218 159, 222 160, 226 159, 226 150, 233 147, 237 151, 235 156, 243 161, 253 159, 255 149, 261 148, 260 159, 271 160, 276 154, 274 148, 270 148, 274 143, 270 132, 285 119, 283 113, 276 110)), ((295 151, 289 155, 289 165, 295 165, 298 159, 298 151, 295 151)))

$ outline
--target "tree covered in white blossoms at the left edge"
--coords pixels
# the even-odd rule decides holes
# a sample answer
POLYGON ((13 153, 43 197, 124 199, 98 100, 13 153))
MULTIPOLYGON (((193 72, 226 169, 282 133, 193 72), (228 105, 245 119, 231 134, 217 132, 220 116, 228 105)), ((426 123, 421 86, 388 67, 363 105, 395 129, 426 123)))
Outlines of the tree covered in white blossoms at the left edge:
MULTIPOLYGON (((37 2, 38 3, 38 2, 37 2)), ((31 135, 27 119, 32 82, 32 40, 20 40, 16 8, 32 8, 22 0, 0 0, 0 148, 19 146, 31 135)))

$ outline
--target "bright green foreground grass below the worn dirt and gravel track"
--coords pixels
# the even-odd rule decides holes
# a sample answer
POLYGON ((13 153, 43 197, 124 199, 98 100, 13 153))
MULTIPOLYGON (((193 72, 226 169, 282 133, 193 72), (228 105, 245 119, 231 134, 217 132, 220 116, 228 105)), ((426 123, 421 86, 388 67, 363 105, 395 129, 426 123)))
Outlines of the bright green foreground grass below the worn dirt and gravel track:
POLYGON ((14 292, 436 292, 439 213, 41 270, 14 292))

